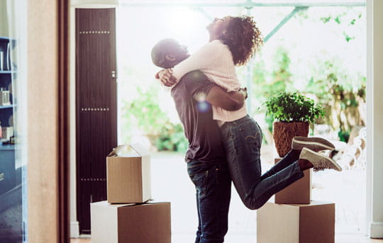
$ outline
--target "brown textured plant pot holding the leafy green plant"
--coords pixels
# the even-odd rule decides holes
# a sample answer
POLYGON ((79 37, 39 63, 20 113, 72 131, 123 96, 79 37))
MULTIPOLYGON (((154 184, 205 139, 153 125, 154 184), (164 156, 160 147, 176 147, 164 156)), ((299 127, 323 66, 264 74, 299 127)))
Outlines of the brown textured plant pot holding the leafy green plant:
POLYGON ((272 133, 278 155, 284 157, 292 149, 293 137, 309 135, 309 123, 274 122, 272 133))

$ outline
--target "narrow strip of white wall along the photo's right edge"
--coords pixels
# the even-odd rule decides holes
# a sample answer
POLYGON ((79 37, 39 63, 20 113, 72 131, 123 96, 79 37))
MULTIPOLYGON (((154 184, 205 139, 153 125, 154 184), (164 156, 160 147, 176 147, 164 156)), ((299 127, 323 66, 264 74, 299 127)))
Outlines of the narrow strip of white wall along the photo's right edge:
POLYGON ((370 236, 372 238, 383 238, 383 1, 368 0, 367 11, 370 14, 368 24, 369 35, 367 45, 370 60, 368 64, 370 78, 368 80, 367 106, 367 129, 369 129, 368 140, 370 140, 370 181, 372 188, 371 200, 371 223, 370 236))

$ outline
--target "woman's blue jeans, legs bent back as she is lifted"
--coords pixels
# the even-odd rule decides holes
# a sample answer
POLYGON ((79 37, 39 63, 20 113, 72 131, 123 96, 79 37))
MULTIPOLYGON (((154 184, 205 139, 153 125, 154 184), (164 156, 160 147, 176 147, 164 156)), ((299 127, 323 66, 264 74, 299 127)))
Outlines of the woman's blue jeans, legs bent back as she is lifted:
POLYGON ((223 124, 221 135, 235 189, 245 206, 252 210, 262 207, 274 193, 304 176, 297 162, 299 152, 295 150, 261 176, 262 131, 249 115, 223 124))

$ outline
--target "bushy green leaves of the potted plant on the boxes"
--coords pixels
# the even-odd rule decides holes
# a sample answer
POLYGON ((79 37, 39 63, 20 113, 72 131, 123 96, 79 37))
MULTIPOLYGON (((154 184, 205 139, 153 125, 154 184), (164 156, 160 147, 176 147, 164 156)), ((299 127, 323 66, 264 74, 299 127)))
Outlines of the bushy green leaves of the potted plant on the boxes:
POLYGON ((313 99, 297 92, 281 92, 267 99, 264 104, 266 114, 282 122, 313 123, 314 119, 324 116, 321 105, 315 106, 313 99))

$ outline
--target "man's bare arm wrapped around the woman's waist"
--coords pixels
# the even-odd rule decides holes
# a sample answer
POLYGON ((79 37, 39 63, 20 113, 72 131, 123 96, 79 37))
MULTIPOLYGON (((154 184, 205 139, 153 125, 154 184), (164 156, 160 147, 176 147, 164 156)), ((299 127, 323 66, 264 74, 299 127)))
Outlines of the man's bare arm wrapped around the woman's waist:
POLYGON ((226 111, 237 111, 242 108, 247 96, 246 89, 240 89, 237 92, 226 92, 220 86, 213 86, 209 93, 206 94, 206 101, 226 111))

